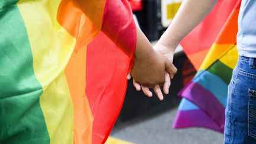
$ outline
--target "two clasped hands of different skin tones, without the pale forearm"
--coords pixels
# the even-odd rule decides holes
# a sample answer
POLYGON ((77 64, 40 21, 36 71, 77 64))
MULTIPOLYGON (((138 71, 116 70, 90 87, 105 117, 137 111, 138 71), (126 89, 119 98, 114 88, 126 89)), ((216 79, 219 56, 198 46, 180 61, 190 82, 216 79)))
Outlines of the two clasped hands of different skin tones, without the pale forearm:
POLYGON ((133 78, 137 91, 142 89, 145 95, 152 97, 149 88, 153 88, 159 100, 163 100, 160 85, 163 85, 164 93, 168 94, 171 79, 177 72, 177 68, 172 64, 174 50, 168 49, 159 41, 152 47, 142 31, 137 28, 135 62, 127 79, 133 78))

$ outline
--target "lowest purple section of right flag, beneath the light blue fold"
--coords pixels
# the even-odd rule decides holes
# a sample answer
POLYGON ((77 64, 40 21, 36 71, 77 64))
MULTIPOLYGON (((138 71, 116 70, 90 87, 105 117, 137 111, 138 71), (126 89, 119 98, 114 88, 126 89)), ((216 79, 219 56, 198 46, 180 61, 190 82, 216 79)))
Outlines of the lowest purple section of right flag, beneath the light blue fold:
POLYGON ((207 129, 212 129, 220 133, 223 133, 224 130, 201 110, 178 110, 172 127, 174 129, 181 129, 185 127, 206 127, 207 129))

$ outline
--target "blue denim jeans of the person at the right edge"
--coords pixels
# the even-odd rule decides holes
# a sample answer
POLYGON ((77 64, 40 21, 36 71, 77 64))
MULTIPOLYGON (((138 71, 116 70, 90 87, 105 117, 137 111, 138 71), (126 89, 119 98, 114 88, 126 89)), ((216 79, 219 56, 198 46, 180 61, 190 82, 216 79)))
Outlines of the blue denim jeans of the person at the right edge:
POLYGON ((256 58, 239 56, 228 86, 224 143, 256 143, 256 58))

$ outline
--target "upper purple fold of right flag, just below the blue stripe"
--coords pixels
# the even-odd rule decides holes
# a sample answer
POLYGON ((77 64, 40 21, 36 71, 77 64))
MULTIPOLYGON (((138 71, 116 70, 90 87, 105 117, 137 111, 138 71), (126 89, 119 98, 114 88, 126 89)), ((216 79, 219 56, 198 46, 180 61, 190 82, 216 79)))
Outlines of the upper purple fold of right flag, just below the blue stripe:
POLYGON ((224 129, 225 107, 220 104, 212 92, 201 87, 201 85, 196 82, 190 82, 185 88, 183 88, 179 95, 196 104, 217 123, 220 129, 224 129))

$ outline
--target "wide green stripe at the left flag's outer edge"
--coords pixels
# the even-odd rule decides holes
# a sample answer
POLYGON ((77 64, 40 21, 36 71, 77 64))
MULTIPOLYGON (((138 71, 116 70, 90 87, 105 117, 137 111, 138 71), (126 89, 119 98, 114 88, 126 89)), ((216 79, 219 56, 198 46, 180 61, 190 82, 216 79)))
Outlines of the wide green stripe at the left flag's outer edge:
POLYGON ((49 143, 25 24, 9 4, 0 2, 0 143, 49 143))

